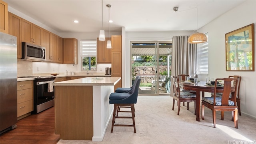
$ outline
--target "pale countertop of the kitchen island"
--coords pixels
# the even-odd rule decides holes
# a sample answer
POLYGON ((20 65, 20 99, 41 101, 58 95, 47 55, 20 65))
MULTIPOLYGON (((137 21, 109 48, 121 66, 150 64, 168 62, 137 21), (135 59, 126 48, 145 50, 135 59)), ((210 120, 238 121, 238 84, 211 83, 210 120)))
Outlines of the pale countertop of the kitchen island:
POLYGON ((54 86, 114 86, 119 80, 120 77, 87 77, 87 78, 78 78, 75 80, 67 80, 63 82, 54 82, 54 86))

